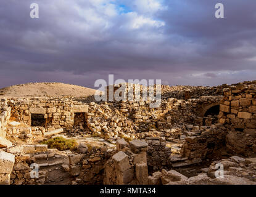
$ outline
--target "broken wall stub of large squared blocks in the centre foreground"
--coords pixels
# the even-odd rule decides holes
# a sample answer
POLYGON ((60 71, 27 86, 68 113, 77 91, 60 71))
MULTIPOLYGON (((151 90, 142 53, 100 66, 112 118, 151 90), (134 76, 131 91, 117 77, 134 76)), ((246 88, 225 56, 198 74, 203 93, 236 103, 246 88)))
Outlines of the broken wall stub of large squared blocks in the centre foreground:
POLYGON ((104 184, 147 185, 147 143, 133 140, 128 144, 121 139, 117 142, 117 151, 105 164, 104 184))

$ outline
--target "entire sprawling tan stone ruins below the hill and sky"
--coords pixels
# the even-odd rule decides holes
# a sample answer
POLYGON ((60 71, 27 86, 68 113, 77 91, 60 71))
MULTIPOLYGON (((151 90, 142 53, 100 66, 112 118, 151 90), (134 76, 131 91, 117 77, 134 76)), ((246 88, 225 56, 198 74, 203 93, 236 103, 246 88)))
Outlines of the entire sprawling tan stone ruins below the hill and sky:
POLYGON ((0 184, 255 184, 255 137, 256 81, 162 86, 159 108, 1 98, 0 184), (56 136, 78 147, 40 144, 56 136))

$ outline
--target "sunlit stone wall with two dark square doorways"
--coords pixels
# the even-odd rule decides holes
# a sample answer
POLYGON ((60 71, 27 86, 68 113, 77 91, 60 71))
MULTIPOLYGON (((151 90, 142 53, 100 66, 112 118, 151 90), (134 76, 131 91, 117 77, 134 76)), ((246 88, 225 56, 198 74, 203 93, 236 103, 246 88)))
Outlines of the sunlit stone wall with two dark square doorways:
POLYGON ((43 115, 43 126, 55 129, 73 127, 74 113, 88 112, 88 105, 69 98, 14 98, 8 100, 8 105, 11 107, 10 119, 31 126, 32 115, 43 115))

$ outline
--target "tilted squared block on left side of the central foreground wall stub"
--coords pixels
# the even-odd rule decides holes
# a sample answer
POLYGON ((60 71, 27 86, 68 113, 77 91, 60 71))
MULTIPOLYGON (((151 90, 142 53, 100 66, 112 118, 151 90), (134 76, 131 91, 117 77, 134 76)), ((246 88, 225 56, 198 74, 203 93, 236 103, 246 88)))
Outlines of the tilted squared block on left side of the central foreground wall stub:
POLYGON ((122 172, 130 169, 131 167, 128 155, 126 155, 123 151, 119 151, 113 155, 112 159, 114 159, 115 166, 122 172))

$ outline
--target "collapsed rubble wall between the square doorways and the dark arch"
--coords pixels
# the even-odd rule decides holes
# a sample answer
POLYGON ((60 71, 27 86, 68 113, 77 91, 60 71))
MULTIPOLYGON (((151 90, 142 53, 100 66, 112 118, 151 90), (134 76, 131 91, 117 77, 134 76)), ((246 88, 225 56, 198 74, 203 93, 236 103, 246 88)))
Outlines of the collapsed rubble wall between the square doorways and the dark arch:
POLYGON ((196 123, 203 125, 199 111, 218 105, 221 97, 202 97, 189 100, 168 98, 159 108, 150 108, 149 101, 90 103, 87 126, 95 136, 155 137, 154 131, 164 131, 176 125, 196 123))

